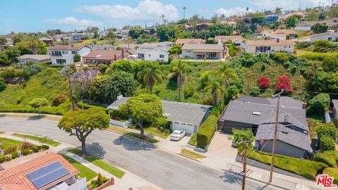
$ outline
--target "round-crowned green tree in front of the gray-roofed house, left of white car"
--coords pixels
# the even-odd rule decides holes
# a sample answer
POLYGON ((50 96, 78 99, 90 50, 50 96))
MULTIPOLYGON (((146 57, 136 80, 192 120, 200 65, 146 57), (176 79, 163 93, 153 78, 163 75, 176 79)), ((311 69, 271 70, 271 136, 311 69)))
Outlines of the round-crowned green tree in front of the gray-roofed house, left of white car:
POLYGON ((163 114, 161 100, 154 94, 140 94, 127 100, 120 111, 130 115, 141 130, 140 139, 144 139, 144 122, 156 122, 163 114))

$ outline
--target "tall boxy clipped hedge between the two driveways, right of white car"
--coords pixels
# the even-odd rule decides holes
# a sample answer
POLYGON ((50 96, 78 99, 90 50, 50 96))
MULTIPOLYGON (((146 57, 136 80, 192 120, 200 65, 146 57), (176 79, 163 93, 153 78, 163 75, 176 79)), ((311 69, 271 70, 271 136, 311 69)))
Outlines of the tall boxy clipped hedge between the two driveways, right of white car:
POLYGON ((197 146, 199 148, 206 148, 213 138, 213 134, 216 131, 216 124, 218 118, 215 115, 210 115, 208 119, 199 127, 197 131, 197 146))

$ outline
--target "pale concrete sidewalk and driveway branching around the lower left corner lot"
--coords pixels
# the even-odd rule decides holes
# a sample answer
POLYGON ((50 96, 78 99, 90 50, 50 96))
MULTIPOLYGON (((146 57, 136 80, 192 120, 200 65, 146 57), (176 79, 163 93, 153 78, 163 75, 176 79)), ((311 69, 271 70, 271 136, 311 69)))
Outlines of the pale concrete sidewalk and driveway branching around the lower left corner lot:
MULTIPOLYGON (((14 137, 14 136, 11 135, 13 133, 14 132, 5 132, 4 134, 0 134, 0 137, 4 137, 4 138, 7 138, 7 139, 13 139, 13 140, 17 140, 17 141, 27 141, 27 142, 30 142, 30 143, 36 144, 36 145, 42 144, 38 141, 32 141, 30 139, 23 139, 23 138, 20 138, 20 137, 14 137)), ((65 156, 73 158, 73 160, 76 160, 78 163, 81 163, 82 165, 88 167, 90 170, 93 170, 96 173, 101 173, 101 175, 104 175, 107 178, 114 177, 113 175, 111 175, 111 173, 106 172, 106 170, 103 170, 101 167, 98 167, 98 166, 96 166, 92 163, 89 163, 87 160, 84 160, 84 158, 77 156, 74 153, 68 152, 67 150, 70 149, 70 148, 76 148, 76 147, 72 146, 70 144, 62 143, 62 142, 58 146, 50 146, 49 145, 49 151, 62 153, 65 156)), ((22 159, 23 160, 33 159, 33 158, 36 158, 38 156, 41 156, 43 153, 45 153, 45 152, 35 153, 35 154, 30 155, 30 156, 24 156, 24 157, 22 157, 22 159)), ((18 159, 20 159, 20 158, 18 158, 18 159)), ((15 160, 17 160, 17 159, 15 159, 15 160)), ((6 165, 6 163, 4 163, 4 164, 6 165)), ((13 164, 6 166, 6 168, 13 166, 13 164)), ((16 162, 15 165, 17 165, 17 164, 19 164, 19 163, 16 162)), ((109 163, 109 164, 111 164, 111 163, 109 163)), ((111 165, 113 165, 113 164, 111 164, 111 165)), ((113 166, 117 167, 119 170, 123 170, 123 172, 125 172, 125 175, 123 175, 123 177, 121 179, 118 179, 118 177, 114 177, 115 184, 113 186, 109 186, 106 189, 130 189, 130 188, 132 188, 132 189, 144 189, 144 190, 156 190, 156 189, 162 190, 161 187, 156 186, 155 184, 152 184, 151 182, 148 182, 145 179, 142 179, 141 177, 139 177, 137 175, 134 175, 132 172, 124 170, 123 168, 118 167, 117 165, 113 165, 113 166)), ((94 179, 95 179, 95 177, 94 177, 94 179)))

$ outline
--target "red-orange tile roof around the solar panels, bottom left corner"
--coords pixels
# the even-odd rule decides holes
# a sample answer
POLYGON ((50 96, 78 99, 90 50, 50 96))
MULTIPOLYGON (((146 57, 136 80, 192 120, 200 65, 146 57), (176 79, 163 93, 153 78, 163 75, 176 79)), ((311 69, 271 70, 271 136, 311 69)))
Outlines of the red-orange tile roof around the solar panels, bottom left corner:
POLYGON ((61 165, 63 165, 63 167, 69 171, 69 174, 55 180, 54 182, 46 184, 41 189, 46 189, 50 186, 53 186, 54 184, 57 184, 58 182, 62 182, 64 179, 68 179, 79 172, 61 155, 56 153, 48 153, 44 156, 40 156, 39 158, 35 158, 34 160, 30 160, 27 163, 16 165, 7 170, 1 171, 0 188, 3 190, 35 190, 37 188, 34 186, 34 184, 32 184, 32 182, 30 182, 30 179, 28 179, 26 175, 30 172, 34 172, 35 170, 39 170, 46 165, 55 163, 56 161, 61 163, 61 165))

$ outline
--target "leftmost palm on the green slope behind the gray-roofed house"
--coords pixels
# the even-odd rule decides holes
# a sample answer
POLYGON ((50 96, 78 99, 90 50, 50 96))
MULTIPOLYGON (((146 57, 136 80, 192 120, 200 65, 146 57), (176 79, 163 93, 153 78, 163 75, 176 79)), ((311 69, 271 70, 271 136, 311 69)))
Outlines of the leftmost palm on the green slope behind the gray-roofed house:
POLYGON ((161 70, 158 68, 158 63, 146 64, 144 70, 140 71, 137 74, 137 77, 149 87, 150 94, 152 94, 154 85, 162 80, 161 70))

